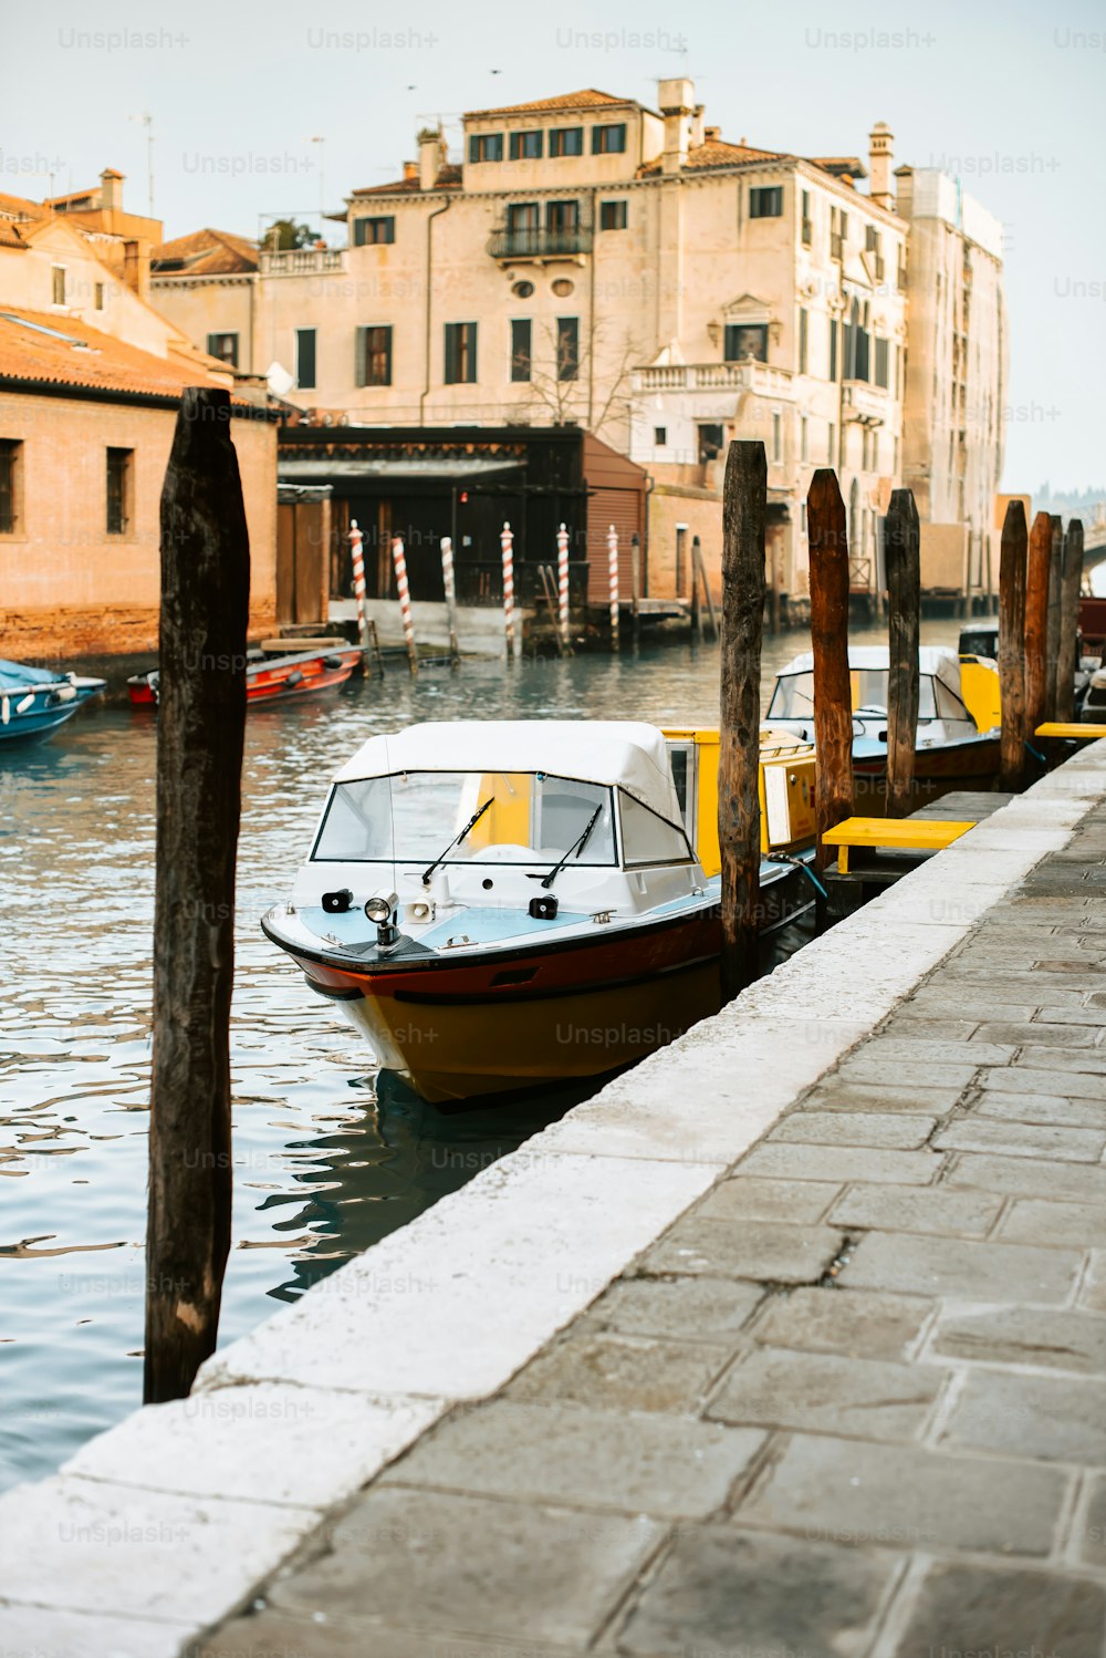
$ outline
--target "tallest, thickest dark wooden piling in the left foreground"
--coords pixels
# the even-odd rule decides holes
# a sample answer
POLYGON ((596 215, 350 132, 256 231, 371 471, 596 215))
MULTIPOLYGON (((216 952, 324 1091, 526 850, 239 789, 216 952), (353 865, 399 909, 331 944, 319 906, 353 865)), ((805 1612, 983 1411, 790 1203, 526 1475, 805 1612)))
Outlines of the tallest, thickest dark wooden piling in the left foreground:
POLYGON ((187 386, 161 497, 144 1399, 215 1350, 230 1248, 230 993, 250 542, 230 396, 187 386))

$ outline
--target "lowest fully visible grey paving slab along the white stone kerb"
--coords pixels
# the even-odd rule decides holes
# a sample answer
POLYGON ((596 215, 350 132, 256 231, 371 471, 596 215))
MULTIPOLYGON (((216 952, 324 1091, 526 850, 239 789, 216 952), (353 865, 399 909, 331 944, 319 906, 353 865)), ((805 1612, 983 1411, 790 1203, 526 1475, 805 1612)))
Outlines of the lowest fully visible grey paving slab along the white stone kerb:
POLYGON ((591 1640, 662 1539, 644 1515, 377 1487, 268 1598, 369 1628, 493 1640, 515 1640, 525 1608, 531 1641, 571 1645, 591 1640))

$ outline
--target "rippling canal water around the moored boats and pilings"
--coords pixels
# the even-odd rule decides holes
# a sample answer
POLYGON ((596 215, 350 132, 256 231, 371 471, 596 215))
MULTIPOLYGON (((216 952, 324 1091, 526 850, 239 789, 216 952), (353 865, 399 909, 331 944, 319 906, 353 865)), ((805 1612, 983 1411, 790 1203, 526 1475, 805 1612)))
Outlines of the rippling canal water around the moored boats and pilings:
MULTIPOLYGON (((924 625, 930 643, 954 637, 954 622, 924 625)), ((765 690, 803 645, 768 642, 765 690)), ((717 688, 717 650, 680 643, 465 662, 414 683, 389 662, 382 681, 250 711, 222 1343, 593 1091, 442 1114, 377 1081, 341 1015, 258 928, 333 771, 414 720, 714 725, 717 688)), ((0 1487, 51 1472, 141 1403, 152 909, 154 718, 91 708, 48 743, 0 748, 0 1487)))

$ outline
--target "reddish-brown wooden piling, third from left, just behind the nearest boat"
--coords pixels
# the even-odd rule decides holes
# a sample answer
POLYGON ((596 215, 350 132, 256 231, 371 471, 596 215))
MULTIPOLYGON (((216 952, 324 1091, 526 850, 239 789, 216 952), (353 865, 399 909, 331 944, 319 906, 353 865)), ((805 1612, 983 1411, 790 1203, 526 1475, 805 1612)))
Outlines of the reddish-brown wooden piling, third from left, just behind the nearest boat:
POLYGON ((853 698, 849 691, 849 539, 838 476, 820 466, 806 496, 810 537, 810 637, 815 652, 815 869, 831 852, 823 844, 853 812, 853 698))

